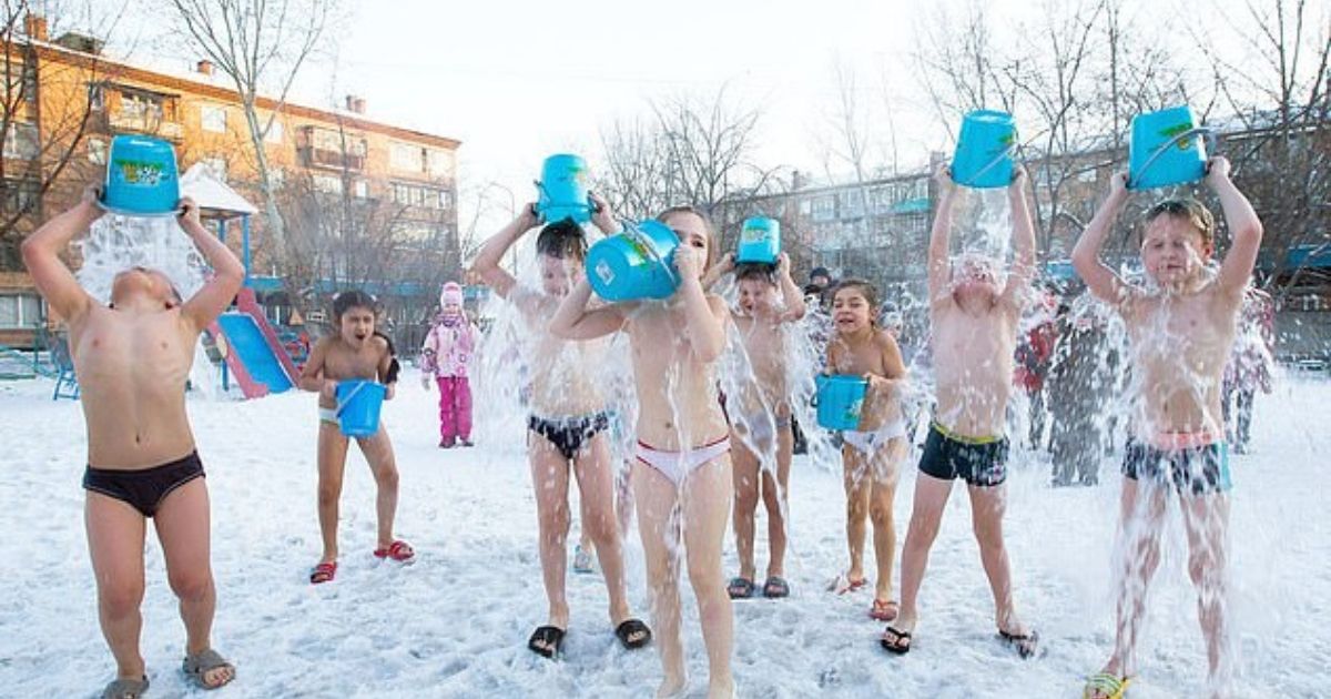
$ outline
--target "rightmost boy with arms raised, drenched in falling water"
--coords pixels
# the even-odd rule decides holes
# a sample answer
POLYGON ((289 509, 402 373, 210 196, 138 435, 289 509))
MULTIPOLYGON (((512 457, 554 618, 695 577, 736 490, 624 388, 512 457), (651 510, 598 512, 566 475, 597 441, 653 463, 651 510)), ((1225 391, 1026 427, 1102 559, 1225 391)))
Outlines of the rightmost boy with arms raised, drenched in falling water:
POLYGON ((1141 257, 1150 285, 1127 284, 1099 261, 1101 246, 1127 201, 1123 173, 1111 180, 1109 198, 1073 250, 1077 274, 1127 326, 1137 398, 1135 434, 1122 467, 1123 567, 1117 571, 1114 652, 1087 682, 1087 698, 1122 696, 1137 672, 1135 648, 1146 590, 1159 566, 1170 486, 1178 491, 1187 530, 1187 569, 1198 591, 1211 691, 1223 692, 1229 679, 1230 474, 1221 397, 1243 289, 1262 245, 1262 222, 1230 181, 1227 160, 1211 158, 1206 181, 1221 200, 1233 236, 1218 272, 1207 268, 1215 252, 1215 221, 1193 200, 1166 200, 1146 213, 1141 257))

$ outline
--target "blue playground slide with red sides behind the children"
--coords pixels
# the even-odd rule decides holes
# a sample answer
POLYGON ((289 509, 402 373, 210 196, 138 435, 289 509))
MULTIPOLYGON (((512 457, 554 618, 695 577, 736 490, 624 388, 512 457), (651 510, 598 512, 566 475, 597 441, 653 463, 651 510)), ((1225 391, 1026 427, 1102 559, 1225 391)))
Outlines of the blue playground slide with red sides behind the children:
POLYGON ((295 365, 254 301, 253 289, 241 289, 236 310, 222 313, 209 330, 225 338, 226 366, 246 398, 282 393, 295 385, 295 365))

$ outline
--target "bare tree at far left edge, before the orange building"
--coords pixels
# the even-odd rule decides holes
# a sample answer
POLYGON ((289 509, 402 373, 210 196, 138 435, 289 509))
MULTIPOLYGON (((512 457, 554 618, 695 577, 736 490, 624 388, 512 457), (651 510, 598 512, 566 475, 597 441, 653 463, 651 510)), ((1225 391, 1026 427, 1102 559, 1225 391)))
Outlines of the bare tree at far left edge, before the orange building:
POLYGON ((0 270, 21 269, 19 242, 47 214, 49 197, 68 194, 67 189, 77 192, 101 168, 84 157, 85 137, 98 126, 101 88, 116 72, 102 59, 101 47, 116 32, 124 9, 95 11, 87 3, 43 3, 39 9, 27 0, 4 0, 0 270), (75 15, 92 27, 85 45, 49 44, 45 35, 75 15), (57 51, 63 60, 51 60, 57 51))

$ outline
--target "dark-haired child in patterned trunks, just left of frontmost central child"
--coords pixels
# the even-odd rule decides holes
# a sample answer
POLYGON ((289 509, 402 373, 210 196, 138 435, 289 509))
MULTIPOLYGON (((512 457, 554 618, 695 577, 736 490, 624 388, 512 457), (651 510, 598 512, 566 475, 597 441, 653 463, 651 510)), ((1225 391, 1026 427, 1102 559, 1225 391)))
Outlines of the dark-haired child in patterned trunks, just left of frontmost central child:
MULTIPOLYGON (((595 224, 616 229, 604 201, 596 198, 595 224)), ((527 640, 527 648, 554 658, 568 630, 564 588, 568 537, 568 479, 582 491, 582 529, 595 545, 610 592, 610 622, 628 648, 651 640, 651 631, 628 606, 624 554, 615 518, 615 459, 611 455, 610 413, 604 387, 594 370, 602 363, 600 342, 568 342, 548 329, 550 318, 568 294, 572 280, 583 277, 586 233, 570 218, 544 226, 536 237, 540 289, 522 285, 499 266, 522 236, 540 224, 532 205, 486 241, 471 269, 496 294, 516 306, 527 337, 523 350, 531 366, 531 415, 527 418, 527 459, 540 534, 540 570, 550 603, 547 622, 527 640)))

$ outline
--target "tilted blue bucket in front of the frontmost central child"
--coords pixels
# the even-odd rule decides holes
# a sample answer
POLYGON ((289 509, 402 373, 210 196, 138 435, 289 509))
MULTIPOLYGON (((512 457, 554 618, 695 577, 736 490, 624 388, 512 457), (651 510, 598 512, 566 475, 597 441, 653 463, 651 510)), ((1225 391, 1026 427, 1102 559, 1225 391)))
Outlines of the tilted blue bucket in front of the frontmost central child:
POLYGON ((587 281, 606 301, 669 298, 679 288, 675 248, 679 236, 666 224, 628 224, 587 250, 587 281))

